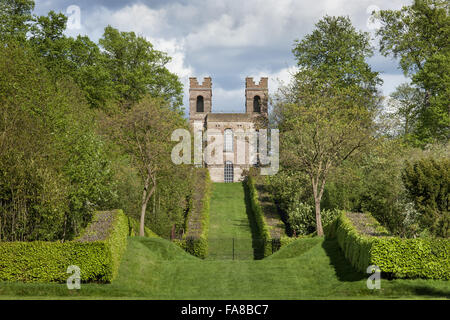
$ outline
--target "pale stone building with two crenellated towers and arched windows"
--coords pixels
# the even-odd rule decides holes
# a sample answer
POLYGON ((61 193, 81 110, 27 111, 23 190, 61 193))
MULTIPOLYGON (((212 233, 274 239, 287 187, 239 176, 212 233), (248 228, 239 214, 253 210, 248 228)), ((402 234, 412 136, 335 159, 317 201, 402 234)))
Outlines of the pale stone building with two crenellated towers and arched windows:
POLYGON ((210 77, 201 84, 189 78, 189 86, 189 122, 194 135, 202 133, 202 164, 208 167, 211 180, 242 180, 243 170, 258 164, 257 140, 252 134, 256 122, 267 119, 268 78, 259 83, 245 79, 245 113, 213 112, 210 77))

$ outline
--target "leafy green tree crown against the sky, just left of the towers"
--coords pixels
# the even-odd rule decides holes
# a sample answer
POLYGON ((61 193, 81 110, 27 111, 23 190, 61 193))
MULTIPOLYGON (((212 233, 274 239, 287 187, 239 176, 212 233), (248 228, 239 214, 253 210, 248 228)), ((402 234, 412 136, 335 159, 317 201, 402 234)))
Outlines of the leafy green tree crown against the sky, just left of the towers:
POLYGON ((182 84, 167 70, 170 57, 166 53, 153 49, 134 32, 120 32, 111 26, 105 28, 99 43, 123 106, 132 106, 146 94, 170 101, 174 109, 182 105, 182 84))

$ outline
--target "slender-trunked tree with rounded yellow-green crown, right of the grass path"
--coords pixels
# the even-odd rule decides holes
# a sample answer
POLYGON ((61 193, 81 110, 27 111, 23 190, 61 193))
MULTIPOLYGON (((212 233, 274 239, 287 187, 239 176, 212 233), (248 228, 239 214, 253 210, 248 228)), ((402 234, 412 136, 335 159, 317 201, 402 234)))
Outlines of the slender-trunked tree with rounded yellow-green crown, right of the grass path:
POLYGON ((347 88, 297 85, 301 99, 280 102, 280 161, 305 172, 311 182, 316 228, 323 235, 320 202, 331 170, 371 141, 372 115, 361 97, 347 88))

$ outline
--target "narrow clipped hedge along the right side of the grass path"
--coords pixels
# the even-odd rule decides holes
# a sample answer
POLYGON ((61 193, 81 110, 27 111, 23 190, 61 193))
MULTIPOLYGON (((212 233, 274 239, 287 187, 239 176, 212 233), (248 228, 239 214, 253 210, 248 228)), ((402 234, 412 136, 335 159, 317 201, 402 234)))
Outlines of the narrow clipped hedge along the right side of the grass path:
POLYGON ((245 184, 247 185, 250 208, 255 218, 256 225, 258 227, 259 236, 264 244, 263 252, 264 257, 272 254, 272 238, 270 236, 270 231, 267 223, 264 219, 264 213, 262 211, 261 205, 258 199, 258 191, 255 187, 255 182, 252 176, 247 176, 245 179, 245 184))

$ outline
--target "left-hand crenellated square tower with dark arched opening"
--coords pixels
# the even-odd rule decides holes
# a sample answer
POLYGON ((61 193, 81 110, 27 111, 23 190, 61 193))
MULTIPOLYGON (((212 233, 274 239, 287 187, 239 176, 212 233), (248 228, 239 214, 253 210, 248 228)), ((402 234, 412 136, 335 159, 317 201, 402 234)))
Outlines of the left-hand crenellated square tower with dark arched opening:
POLYGON ((199 84, 197 78, 189 78, 189 120, 203 124, 205 117, 211 112, 212 82, 210 77, 199 84))

